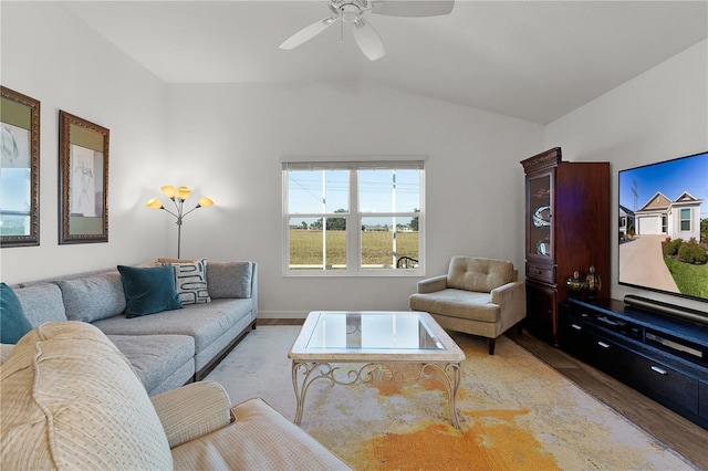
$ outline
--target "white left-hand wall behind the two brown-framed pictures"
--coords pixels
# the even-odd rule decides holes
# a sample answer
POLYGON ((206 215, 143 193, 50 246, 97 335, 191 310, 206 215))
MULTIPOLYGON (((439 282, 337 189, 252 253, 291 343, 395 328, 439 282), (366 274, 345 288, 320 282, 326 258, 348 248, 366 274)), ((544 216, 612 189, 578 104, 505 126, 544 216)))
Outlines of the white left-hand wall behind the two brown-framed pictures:
POLYGON ((143 206, 166 167, 166 86, 59 3, 2 2, 1 83, 41 102, 40 245, 0 250, 2 281, 137 263, 167 242, 143 206), (59 109, 111 130, 108 242, 59 245, 59 109))

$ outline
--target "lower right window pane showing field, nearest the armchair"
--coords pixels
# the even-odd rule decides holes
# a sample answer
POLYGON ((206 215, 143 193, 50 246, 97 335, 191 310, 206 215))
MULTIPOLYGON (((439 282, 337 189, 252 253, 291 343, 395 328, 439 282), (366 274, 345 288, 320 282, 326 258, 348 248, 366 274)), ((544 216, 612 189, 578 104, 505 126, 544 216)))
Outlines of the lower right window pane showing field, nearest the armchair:
POLYGON ((418 218, 362 218, 362 268, 417 268, 418 260, 418 218))

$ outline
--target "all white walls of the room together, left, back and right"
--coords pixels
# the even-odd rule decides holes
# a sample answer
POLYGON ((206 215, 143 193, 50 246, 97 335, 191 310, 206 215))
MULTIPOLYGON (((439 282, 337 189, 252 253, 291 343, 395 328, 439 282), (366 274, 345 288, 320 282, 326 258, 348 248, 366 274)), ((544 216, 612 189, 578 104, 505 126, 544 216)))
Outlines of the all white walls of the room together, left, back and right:
MULTIPOLYGON (((417 279, 282 276, 280 156, 427 155, 434 275, 456 253, 522 271, 530 155, 561 146, 571 160, 612 161, 616 202, 618 169, 708 149, 706 41, 542 128, 375 85, 168 86, 61 4, 1 13, 1 83, 42 103, 41 245, 0 251, 9 283, 175 255, 174 220, 143 206, 173 184, 216 200, 186 219, 183 255, 257 261, 263 314, 405 308, 417 279), (58 244, 59 109, 111 129, 108 243, 58 244)), ((614 297, 629 292, 616 273, 603 279, 614 297)))

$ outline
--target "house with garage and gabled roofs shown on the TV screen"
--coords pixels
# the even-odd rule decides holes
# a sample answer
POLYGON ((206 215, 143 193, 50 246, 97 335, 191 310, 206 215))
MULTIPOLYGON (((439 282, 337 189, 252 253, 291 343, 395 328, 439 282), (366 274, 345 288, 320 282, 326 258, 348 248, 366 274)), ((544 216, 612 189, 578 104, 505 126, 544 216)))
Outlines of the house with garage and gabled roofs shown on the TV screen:
POLYGON ((700 241, 700 205, 704 200, 684 191, 670 200, 660 191, 634 211, 637 236, 668 236, 671 239, 700 241))

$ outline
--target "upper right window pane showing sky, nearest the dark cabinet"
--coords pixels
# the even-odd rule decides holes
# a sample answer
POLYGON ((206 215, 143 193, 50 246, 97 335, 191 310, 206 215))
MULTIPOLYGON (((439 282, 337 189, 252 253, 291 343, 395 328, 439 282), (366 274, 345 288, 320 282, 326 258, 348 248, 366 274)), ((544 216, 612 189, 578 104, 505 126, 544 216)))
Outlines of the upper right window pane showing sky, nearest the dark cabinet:
POLYGON ((358 170, 361 212, 413 212, 420 208, 420 170, 358 170))

